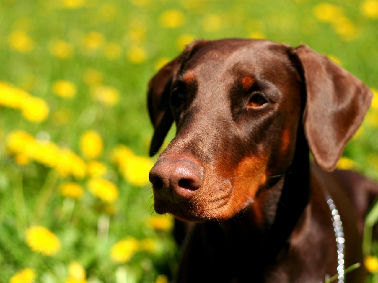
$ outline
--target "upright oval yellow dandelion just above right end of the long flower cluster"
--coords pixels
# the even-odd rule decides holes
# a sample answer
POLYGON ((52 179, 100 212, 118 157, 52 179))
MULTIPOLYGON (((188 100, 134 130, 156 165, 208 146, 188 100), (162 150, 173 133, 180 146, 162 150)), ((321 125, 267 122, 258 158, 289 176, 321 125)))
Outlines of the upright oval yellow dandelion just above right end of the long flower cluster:
POLYGON ((104 151, 104 142, 96 131, 86 131, 80 138, 80 151, 86 158, 96 158, 104 151))

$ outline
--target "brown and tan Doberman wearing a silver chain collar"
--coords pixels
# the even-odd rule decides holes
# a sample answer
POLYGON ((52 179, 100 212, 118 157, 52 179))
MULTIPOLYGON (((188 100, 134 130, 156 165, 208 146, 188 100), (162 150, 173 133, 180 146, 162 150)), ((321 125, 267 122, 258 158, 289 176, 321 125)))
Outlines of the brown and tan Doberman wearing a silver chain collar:
POLYGON ((378 186, 333 169, 371 98, 305 45, 197 41, 164 66, 149 84, 150 154, 173 121, 177 135, 149 178, 155 211, 190 222, 176 223, 175 280, 344 282, 378 186))

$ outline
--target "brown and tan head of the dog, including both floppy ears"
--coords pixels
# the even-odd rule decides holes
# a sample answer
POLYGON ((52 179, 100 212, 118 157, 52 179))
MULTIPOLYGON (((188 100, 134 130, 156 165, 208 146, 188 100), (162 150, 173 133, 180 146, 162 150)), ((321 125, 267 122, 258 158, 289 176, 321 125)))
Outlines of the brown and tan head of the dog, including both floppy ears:
POLYGON ((155 211, 224 220, 287 172, 303 127, 316 163, 332 171, 370 105, 352 74, 305 45, 197 41, 151 79, 150 155, 176 137, 149 174, 155 211))

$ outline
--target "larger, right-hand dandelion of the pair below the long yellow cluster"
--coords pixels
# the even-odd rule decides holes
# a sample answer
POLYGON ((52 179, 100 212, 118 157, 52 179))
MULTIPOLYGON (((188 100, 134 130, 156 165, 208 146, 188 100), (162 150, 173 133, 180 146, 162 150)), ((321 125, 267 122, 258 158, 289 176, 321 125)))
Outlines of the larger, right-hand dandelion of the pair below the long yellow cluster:
POLYGON ((102 178, 92 178, 88 181, 88 190, 101 200, 112 203, 118 198, 118 189, 112 182, 102 178))

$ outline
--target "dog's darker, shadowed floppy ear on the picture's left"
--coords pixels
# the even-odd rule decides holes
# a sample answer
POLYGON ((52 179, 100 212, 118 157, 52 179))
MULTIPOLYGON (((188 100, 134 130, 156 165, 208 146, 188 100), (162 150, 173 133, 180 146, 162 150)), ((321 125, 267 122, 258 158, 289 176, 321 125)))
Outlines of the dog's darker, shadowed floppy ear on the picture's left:
POLYGON ((172 81, 185 62, 206 44, 208 42, 205 40, 196 40, 187 45, 180 56, 161 68, 150 80, 147 103, 150 119, 155 129, 150 146, 150 156, 158 152, 174 120, 169 105, 172 81))

